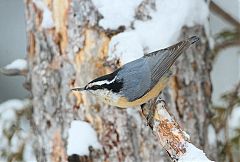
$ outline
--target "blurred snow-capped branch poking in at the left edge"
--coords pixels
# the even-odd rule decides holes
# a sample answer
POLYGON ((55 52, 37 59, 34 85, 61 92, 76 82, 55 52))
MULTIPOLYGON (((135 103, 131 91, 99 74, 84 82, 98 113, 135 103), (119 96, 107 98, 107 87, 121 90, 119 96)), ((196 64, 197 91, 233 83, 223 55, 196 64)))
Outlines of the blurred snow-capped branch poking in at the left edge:
POLYGON ((4 75, 25 75, 27 70, 27 61, 25 59, 16 59, 12 63, 1 68, 0 72, 4 75))

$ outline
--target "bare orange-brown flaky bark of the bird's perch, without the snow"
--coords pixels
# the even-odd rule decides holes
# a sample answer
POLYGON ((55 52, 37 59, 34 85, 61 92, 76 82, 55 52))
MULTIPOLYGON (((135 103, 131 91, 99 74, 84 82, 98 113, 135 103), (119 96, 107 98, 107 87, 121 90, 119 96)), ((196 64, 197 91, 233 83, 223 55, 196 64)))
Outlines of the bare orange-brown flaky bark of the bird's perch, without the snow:
MULTIPOLYGON (((181 129, 168 109, 165 101, 155 99, 142 106, 142 113, 158 139, 156 143, 159 143, 166 150, 172 161, 177 162, 188 153, 187 145, 190 142, 190 136, 181 129), (153 116, 149 118, 149 114, 153 116)), ((197 159, 201 155, 196 154, 195 156, 197 159)))

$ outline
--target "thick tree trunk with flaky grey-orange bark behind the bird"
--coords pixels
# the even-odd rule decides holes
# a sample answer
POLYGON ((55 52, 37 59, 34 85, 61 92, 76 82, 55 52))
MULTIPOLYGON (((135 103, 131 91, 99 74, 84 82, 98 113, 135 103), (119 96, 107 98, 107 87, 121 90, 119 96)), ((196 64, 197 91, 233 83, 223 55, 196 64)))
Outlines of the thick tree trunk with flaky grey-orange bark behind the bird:
MULTIPOLYGON (((89 156, 79 157, 80 161, 166 161, 167 156, 163 158, 164 151, 136 109, 116 109, 88 94, 70 91, 113 70, 104 66, 108 45, 122 29, 100 28, 97 24, 101 16, 88 0, 43 3, 52 12, 54 28, 43 28, 43 11, 36 2, 25 2, 29 40, 26 85, 32 92, 37 160, 66 161, 70 123, 85 120, 95 128, 103 148, 91 150, 89 156)), ((211 100, 208 42, 202 26, 184 28, 182 37, 195 33, 201 36, 201 43, 177 61, 177 74, 164 98, 174 107, 171 111, 193 143, 206 152, 210 148, 206 129, 211 100)), ((207 153, 215 158, 212 151, 207 153)))

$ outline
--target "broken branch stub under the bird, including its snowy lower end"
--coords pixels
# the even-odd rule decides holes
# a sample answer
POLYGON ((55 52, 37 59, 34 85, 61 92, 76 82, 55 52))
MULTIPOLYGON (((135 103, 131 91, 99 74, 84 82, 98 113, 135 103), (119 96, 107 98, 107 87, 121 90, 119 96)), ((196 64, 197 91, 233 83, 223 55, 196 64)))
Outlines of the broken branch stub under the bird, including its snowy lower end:
POLYGON ((202 150, 190 143, 189 135, 180 128, 173 115, 167 111, 163 100, 145 104, 142 106, 142 113, 160 145, 173 161, 211 162, 202 150))

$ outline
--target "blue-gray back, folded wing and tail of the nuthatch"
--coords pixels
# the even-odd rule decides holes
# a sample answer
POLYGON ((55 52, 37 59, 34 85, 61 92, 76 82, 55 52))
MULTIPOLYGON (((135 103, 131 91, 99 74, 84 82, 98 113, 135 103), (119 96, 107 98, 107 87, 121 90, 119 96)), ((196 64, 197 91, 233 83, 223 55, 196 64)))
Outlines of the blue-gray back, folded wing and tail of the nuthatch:
POLYGON ((170 74, 169 69, 175 60, 197 40, 198 38, 192 37, 124 65, 118 74, 124 83, 121 93, 129 101, 145 95, 161 77, 170 74))

